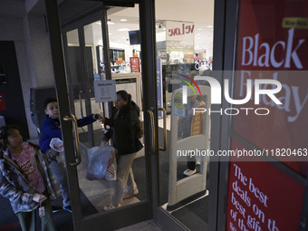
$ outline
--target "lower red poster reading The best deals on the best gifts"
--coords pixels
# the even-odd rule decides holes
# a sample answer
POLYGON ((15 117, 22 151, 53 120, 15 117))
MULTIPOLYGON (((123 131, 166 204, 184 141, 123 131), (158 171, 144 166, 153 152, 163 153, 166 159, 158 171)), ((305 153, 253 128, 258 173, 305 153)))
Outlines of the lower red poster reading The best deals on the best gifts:
POLYGON ((303 193, 303 185, 269 162, 231 162, 226 230, 298 230, 303 193))

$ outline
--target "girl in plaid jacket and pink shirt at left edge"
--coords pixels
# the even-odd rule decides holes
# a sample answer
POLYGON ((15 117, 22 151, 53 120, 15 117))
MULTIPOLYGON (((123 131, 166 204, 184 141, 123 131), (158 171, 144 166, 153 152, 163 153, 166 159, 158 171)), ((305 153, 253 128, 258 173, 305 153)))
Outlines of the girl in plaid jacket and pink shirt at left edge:
POLYGON ((60 188, 38 146, 24 142, 17 126, 0 129, 0 194, 10 200, 23 231, 38 230, 36 211, 41 217, 41 230, 56 230, 52 201, 60 188))

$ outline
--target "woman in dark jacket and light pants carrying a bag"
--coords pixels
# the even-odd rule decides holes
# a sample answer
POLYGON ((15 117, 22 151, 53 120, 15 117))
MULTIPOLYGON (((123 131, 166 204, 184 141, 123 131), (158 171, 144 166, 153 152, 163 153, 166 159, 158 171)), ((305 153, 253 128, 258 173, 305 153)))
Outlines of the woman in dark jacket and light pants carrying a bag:
POLYGON ((104 207, 110 210, 120 207, 122 198, 132 197, 138 194, 138 188, 134 180, 131 165, 137 152, 143 148, 138 133, 140 131, 140 108, 131 101, 131 95, 127 91, 117 91, 115 102, 117 111, 111 119, 102 120, 111 126, 103 140, 112 138, 113 145, 118 151, 117 185, 114 190, 111 204, 104 207), (125 189, 126 188, 126 189, 125 189))

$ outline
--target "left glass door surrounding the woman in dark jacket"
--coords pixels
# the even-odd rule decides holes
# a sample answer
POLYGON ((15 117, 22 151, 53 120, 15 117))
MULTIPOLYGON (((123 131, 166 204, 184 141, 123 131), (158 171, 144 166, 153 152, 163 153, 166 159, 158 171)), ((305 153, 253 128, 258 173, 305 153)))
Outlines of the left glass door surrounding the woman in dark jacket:
MULTIPOLYGON (((63 50, 59 43, 60 30, 56 26, 58 20, 55 14, 56 8, 57 5, 53 1, 46 1, 49 28, 53 28, 51 43, 55 83, 61 111, 74 228, 75 230, 101 230, 101 228, 113 230, 148 220, 152 213, 149 197, 151 188, 149 184, 151 153, 149 151, 152 149, 148 146, 149 143, 151 147, 154 145, 148 136, 152 134, 153 127, 149 122, 151 121, 149 116, 144 116, 145 109, 142 107, 144 99, 141 93, 141 72, 131 71, 141 71, 140 62, 147 62, 147 58, 135 54, 136 51, 139 55, 142 54, 140 42, 130 43, 130 31, 142 30, 140 16, 138 16, 140 5, 131 3, 130 7, 110 6, 109 10, 98 10, 96 14, 86 16, 83 21, 62 34, 63 50), (134 17, 126 17, 128 12, 134 17), (111 37, 111 35, 115 36, 111 37), (111 60, 111 54, 113 60, 111 60), (65 69, 63 59, 60 57, 65 59, 65 69), (134 65, 138 65, 138 68, 131 68, 130 58, 137 60, 134 65), (112 116, 114 106, 112 102, 95 101, 93 83, 106 80, 116 82, 116 91, 125 90, 130 93, 132 101, 140 108, 140 120, 142 122, 145 120, 145 129, 148 131, 145 137, 140 139, 144 148, 137 152, 129 171, 130 179, 134 179, 137 184, 137 190, 132 192, 132 197, 126 198, 125 194, 121 195, 120 207, 107 211, 105 206, 114 200, 115 194, 120 194, 120 183, 119 180, 112 180, 112 178, 93 179, 89 175, 91 162, 89 150, 100 147, 102 137, 109 127, 101 126, 99 121, 94 121, 90 126, 80 128, 77 127, 76 122, 95 113, 101 113, 105 117, 112 116)), ((110 145, 112 146, 112 142, 110 145)), ((120 158, 117 157, 117 159, 119 177, 120 158)))

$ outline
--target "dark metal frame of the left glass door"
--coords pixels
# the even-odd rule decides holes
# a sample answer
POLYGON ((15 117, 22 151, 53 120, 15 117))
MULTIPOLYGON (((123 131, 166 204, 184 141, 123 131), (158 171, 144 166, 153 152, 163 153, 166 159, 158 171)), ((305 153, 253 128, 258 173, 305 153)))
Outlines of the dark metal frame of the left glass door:
MULTIPOLYGON (((86 1, 85 1, 86 2, 86 1)), ((121 1, 115 1, 115 5, 118 6, 121 1)), ((142 2, 142 1, 141 1, 142 2)), ((128 1, 123 1, 123 5, 128 5, 128 1)), ((130 1, 130 5, 136 3, 138 1, 132 2, 130 1)), ((111 2, 108 2, 108 5, 111 5, 111 2)), ((128 207, 121 207, 120 209, 111 210, 110 212, 104 213, 96 213, 88 217, 82 217, 82 203, 80 197, 80 188, 78 182, 77 175, 77 164, 76 156, 73 144, 73 136, 72 136, 72 121, 67 121, 67 118, 71 117, 71 109, 70 102, 68 99, 68 91, 67 91, 67 82, 66 82, 66 73, 64 66, 64 57, 63 57, 63 41, 61 34, 61 27, 59 21, 58 14, 58 5, 57 1, 54 0, 45 0, 46 5, 46 15, 47 15, 47 24, 50 34, 51 48, 52 48, 52 56, 53 56, 53 70, 54 70, 54 80, 57 92, 57 98, 60 108, 60 117, 61 117, 61 125, 62 125, 62 133, 63 133, 63 141, 65 143, 64 150, 65 153, 72 153, 72 155, 66 154, 66 162, 67 162, 67 173, 68 173, 68 181, 69 188, 71 192, 71 201, 72 201, 72 215, 73 215, 73 224, 75 230, 101 230, 101 227, 107 230, 121 228, 123 226, 130 226, 132 224, 139 223, 141 221, 149 220, 152 218, 152 204, 151 204, 151 171, 149 164, 149 157, 153 156, 153 153, 149 153, 152 149, 149 149, 149 143, 151 143, 151 138, 149 137, 152 130, 152 127, 145 126, 145 157, 146 157, 146 166, 147 166, 147 181, 148 186, 147 190, 149 192, 148 198, 144 201, 141 201, 137 204, 130 205, 128 207), (64 120, 66 118, 66 120, 64 120), (119 222, 120 221, 120 222, 119 222)), ((101 5, 102 6, 102 5, 101 5)), ((140 3, 140 12, 146 11, 147 4, 140 3)), ((149 7, 148 7, 149 9, 149 7)), ((72 29, 82 29, 82 26, 85 24, 91 24, 97 20, 101 20, 101 23, 105 23, 107 25, 106 20, 104 20, 104 15, 101 14, 101 8, 95 14, 91 12, 91 15, 87 17, 85 20, 75 21, 74 24, 70 24, 65 26, 63 32, 68 32, 72 29), (70 28, 71 27, 71 28, 70 28)), ((107 27, 107 26, 106 26, 107 27)), ((83 30, 83 29, 82 29, 83 30)), ((144 34, 147 34, 145 38, 146 41, 149 41, 149 36, 152 37, 152 34, 149 34, 148 31, 145 31, 144 27, 140 26, 140 31, 144 31, 144 34)), ((81 38, 81 33, 79 33, 79 38, 81 38)), ((82 38, 83 39, 83 38, 82 38)), ((63 36, 63 40, 66 41, 65 36, 63 36)), ((141 42, 142 43, 142 42, 141 42)), ((83 49, 85 49, 85 44, 81 43, 83 49)), ((105 43, 104 43, 105 44, 105 43)), ((152 53, 153 47, 146 46, 144 53, 152 53)), ((151 60, 153 58, 148 55, 151 60)), ((108 60, 108 58, 106 59, 108 60)), ((147 58, 143 58, 143 65, 146 63, 149 64, 147 58)), ((143 69, 143 72, 146 72, 147 68, 143 69)), ((152 85, 151 85, 152 86, 152 85)), ((148 99, 151 97, 148 97, 148 99)), ((144 105, 147 105, 147 101, 144 101, 144 105)), ((149 108, 149 106, 147 107, 149 108)), ((144 109, 147 109, 144 107, 144 109)), ((151 119, 149 116, 145 116, 145 124, 149 124, 151 119)))

